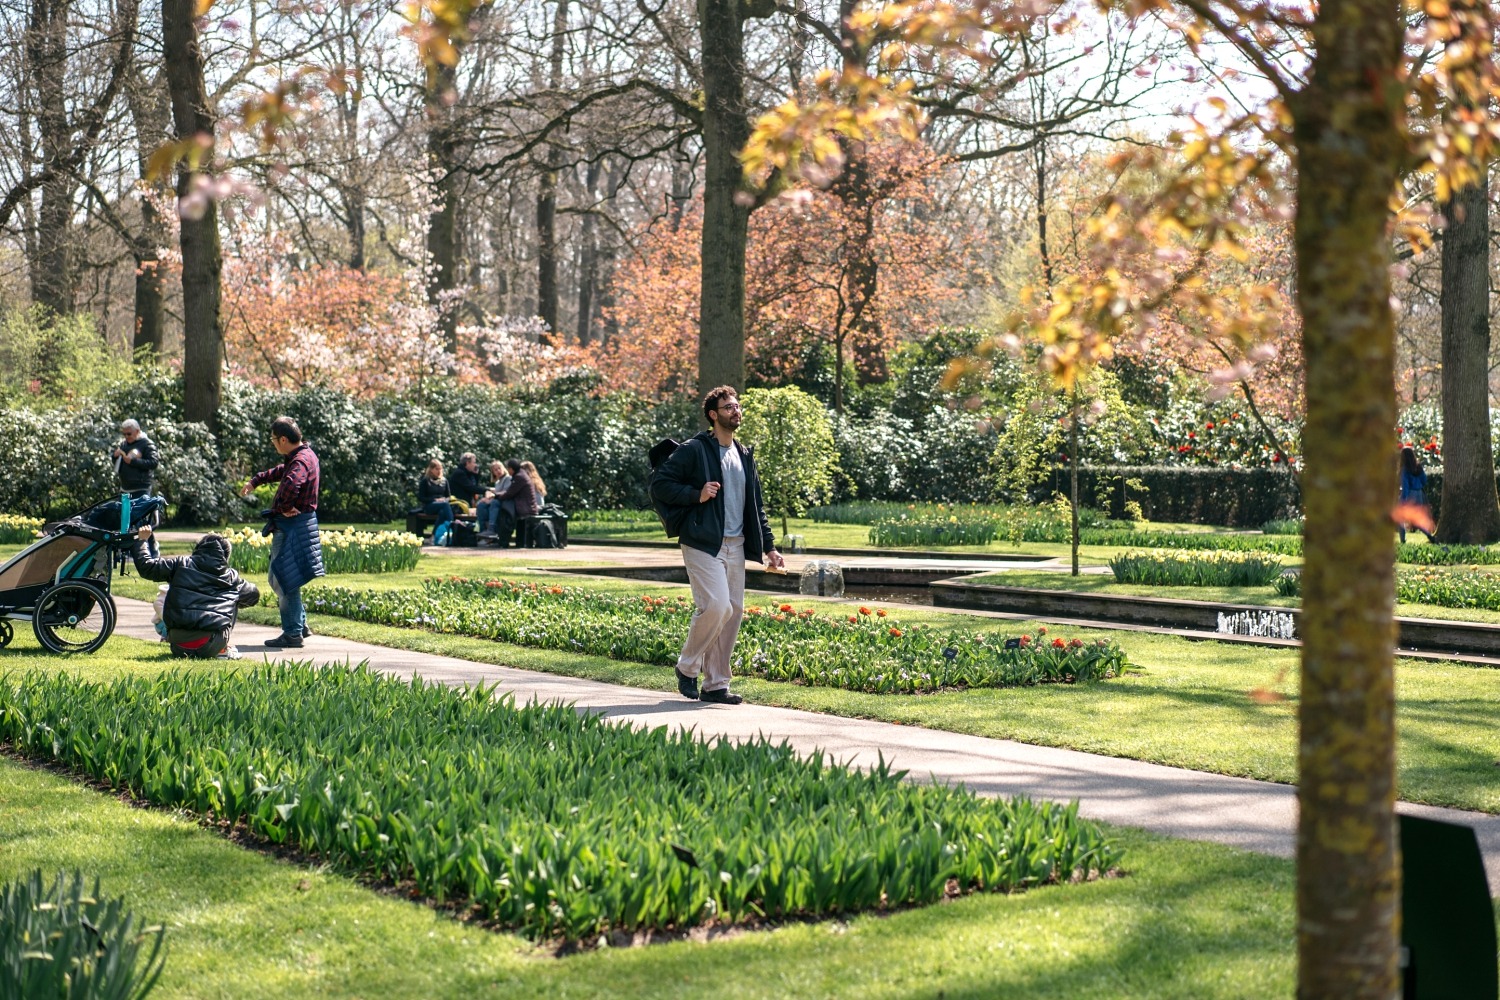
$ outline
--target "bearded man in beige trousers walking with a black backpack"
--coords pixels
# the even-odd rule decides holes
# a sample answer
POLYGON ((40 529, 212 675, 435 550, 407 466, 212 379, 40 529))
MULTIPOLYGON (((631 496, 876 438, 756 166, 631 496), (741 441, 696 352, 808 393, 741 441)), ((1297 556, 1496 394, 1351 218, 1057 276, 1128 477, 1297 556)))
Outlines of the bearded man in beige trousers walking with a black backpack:
POLYGON ((754 456, 735 441, 740 394, 730 385, 710 391, 704 417, 711 430, 688 439, 657 468, 651 499, 693 508, 680 529, 694 609, 676 658, 676 690, 700 702, 740 705, 744 699, 729 693, 729 664, 744 618, 746 561, 776 570, 784 562, 765 517, 754 456))

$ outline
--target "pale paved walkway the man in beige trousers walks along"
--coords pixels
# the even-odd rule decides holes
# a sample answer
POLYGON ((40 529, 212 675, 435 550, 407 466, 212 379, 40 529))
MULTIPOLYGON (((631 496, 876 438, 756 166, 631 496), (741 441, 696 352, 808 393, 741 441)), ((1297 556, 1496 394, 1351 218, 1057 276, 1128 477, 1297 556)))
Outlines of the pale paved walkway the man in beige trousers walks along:
MULTIPOLYGON (((152 607, 117 598, 117 631, 154 639, 152 607)), ((236 640, 248 658, 278 657, 261 643, 278 628, 243 622, 236 640)), ((572 702, 621 723, 694 727, 702 736, 786 739, 802 753, 824 750, 854 765, 873 765, 878 754, 914 778, 963 781, 986 795, 1080 801, 1083 816, 1155 831, 1168 837, 1228 844, 1263 855, 1294 853, 1296 795, 1292 786, 1164 768, 1072 750, 1032 747, 1008 739, 964 736, 914 726, 820 715, 764 705, 704 705, 676 694, 498 667, 453 657, 314 636, 300 651, 322 661, 369 660, 370 666, 442 684, 484 681, 514 693, 518 702, 572 702)), ((1500 816, 1401 805, 1402 813, 1473 826, 1485 855, 1491 892, 1500 895, 1500 816)))

